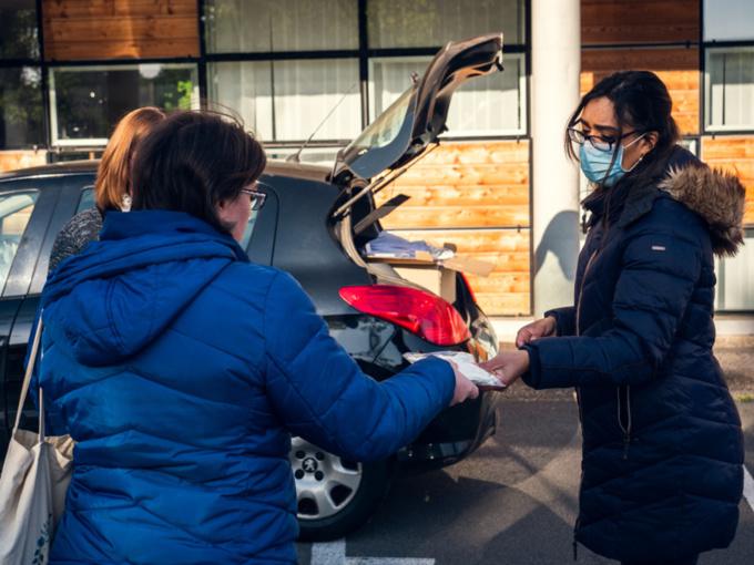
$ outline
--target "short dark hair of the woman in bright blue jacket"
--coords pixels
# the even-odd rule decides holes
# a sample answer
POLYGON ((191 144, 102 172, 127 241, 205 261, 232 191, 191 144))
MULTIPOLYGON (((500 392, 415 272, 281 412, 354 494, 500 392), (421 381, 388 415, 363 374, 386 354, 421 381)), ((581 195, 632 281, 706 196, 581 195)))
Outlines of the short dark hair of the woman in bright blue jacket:
POLYGON ((237 120, 216 112, 175 112, 139 145, 131 209, 186 212, 228 233, 215 206, 237 198, 266 162, 259 142, 237 120))

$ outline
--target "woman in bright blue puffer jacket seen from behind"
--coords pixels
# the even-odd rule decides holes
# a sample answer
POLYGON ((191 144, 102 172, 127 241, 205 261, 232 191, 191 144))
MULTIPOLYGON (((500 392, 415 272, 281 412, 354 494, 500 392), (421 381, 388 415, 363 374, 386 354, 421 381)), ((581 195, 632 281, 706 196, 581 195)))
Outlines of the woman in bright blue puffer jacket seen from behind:
POLYGON ((438 359, 374 381, 291 276, 248 261, 264 166, 238 124, 169 116, 132 212, 50 278, 40 383, 77 441, 51 563, 295 563, 292 433, 378 460, 478 393, 438 359))

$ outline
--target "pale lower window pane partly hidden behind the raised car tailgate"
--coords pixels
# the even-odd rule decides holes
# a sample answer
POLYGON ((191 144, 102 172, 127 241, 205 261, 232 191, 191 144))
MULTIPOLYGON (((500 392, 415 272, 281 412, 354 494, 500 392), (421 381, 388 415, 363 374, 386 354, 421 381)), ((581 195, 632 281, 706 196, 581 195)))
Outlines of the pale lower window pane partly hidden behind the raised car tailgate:
MULTIPOLYGON (((421 75, 431 58, 373 59, 369 73, 371 120, 421 75)), ((523 56, 507 55, 506 70, 469 80, 456 91, 448 114, 450 137, 526 133, 523 56)))

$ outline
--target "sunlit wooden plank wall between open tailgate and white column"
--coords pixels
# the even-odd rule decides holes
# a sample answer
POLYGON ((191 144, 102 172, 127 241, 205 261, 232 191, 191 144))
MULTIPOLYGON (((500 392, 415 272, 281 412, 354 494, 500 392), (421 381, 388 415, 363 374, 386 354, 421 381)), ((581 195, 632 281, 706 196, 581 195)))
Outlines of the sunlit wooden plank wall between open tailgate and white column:
POLYGON ((454 243, 458 253, 495 264, 469 276, 490 315, 530 314, 529 142, 441 144, 378 195, 410 199, 383 220, 408 239, 454 243))

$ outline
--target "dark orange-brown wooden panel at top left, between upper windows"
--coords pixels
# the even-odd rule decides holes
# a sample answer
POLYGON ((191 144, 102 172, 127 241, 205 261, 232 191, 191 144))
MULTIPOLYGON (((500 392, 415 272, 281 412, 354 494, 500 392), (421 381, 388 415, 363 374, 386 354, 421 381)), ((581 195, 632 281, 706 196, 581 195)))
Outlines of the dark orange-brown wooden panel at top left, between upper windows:
POLYGON ((43 0, 49 60, 198 56, 196 0, 43 0))

